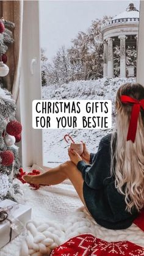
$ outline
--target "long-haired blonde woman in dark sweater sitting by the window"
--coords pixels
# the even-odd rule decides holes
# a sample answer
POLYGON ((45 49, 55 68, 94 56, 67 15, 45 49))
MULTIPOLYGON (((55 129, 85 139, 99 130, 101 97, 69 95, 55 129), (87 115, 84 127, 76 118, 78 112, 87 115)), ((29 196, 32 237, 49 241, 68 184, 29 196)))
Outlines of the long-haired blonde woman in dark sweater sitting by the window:
POLYGON ((115 131, 104 136, 96 154, 79 156, 68 149, 70 161, 28 183, 56 185, 66 178, 95 221, 107 229, 126 229, 144 206, 144 87, 123 84, 116 97, 115 131))

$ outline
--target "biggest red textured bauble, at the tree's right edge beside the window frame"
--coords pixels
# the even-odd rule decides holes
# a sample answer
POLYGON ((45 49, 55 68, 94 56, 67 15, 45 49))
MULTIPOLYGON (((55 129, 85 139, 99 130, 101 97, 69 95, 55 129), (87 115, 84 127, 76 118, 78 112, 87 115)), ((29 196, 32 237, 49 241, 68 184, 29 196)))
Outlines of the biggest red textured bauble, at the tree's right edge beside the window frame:
POLYGON ((16 120, 10 121, 7 124, 6 131, 9 135, 12 135, 12 136, 16 136, 20 134, 22 131, 21 123, 16 120))

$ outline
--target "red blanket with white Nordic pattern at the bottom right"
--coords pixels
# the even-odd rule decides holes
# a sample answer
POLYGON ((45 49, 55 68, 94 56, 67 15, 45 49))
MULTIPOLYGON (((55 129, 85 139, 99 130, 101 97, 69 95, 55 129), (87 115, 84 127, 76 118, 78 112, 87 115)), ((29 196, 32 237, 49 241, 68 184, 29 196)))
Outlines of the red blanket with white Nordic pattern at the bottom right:
MULTIPOLYGON (((144 210, 135 219, 134 224, 144 231, 144 210)), ((144 247, 129 241, 107 242, 91 234, 83 234, 71 238, 66 243, 56 247, 51 256, 141 256, 144 247)))

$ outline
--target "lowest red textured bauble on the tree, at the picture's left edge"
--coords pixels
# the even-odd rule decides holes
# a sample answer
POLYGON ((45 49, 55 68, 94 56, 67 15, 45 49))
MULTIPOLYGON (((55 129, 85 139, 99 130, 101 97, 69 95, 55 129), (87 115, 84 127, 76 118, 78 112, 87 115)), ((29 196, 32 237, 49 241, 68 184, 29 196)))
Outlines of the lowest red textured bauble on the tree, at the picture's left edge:
POLYGON ((14 160, 14 154, 10 150, 5 150, 0 152, 0 157, 1 157, 1 164, 2 166, 10 166, 10 164, 13 163, 14 160))

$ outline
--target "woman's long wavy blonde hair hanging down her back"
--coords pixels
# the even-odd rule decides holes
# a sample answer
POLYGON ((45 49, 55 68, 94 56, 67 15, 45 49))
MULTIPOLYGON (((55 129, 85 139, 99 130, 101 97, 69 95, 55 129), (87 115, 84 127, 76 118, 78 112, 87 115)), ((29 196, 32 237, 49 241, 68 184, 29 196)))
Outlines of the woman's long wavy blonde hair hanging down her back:
POLYGON ((144 111, 140 110, 135 142, 126 141, 132 104, 121 103, 121 95, 142 100, 144 87, 127 83, 118 89, 117 121, 111 140, 111 174, 115 175, 115 187, 125 195, 127 211, 131 212, 133 207, 140 211, 144 207, 144 111))

